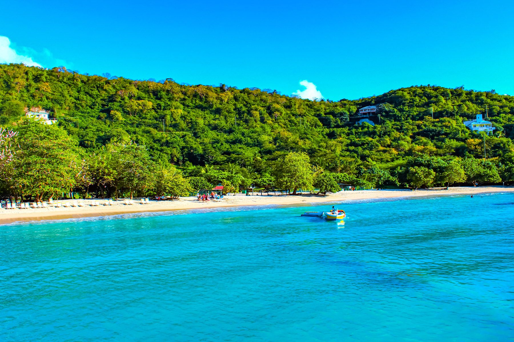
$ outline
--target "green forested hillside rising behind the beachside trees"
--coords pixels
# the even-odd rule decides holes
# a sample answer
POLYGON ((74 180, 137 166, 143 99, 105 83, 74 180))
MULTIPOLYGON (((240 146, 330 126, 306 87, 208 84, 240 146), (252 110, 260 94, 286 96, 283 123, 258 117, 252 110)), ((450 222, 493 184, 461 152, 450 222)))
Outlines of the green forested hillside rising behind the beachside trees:
POLYGON ((494 91, 415 86, 333 102, 24 65, 0 65, 0 79, 3 127, 15 125, 24 108, 40 107, 86 150, 132 140, 154 160, 182 169, 231 163, 246 174, 267 173, 290 151, 348 174, 393 170, 416 157, 483 158, 483 136, 466 129, 463 120, 485 114, 487 106, 496 127, 485 138, 487 158, 503 168, 503 180, 512 180, 514 97, 494 91), (358 109, 368 105, 380 105, 379 124, 355 125, 358 109))

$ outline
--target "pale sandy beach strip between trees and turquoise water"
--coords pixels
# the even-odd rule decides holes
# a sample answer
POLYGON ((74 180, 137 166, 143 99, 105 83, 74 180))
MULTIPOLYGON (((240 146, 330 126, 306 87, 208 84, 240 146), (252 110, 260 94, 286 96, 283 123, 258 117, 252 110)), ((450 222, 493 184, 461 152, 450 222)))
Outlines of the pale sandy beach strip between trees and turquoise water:
MULTIPOLYGON (((38 208, 38 209, 11 209, 0 211, 0 225, 12 223, 28 223, 34 221, 60 220, 68 218, 102 217, 120 214, 155 213, 179 210, 200 210, 216 208, 234 208, 264 205, 313 205, 316 203, 343 202, 345 200, 380 199, 398 197, 446 196, 446 195, 474 195, 494 192, 514 192, 514 187, 454 187, 430 188, 411 190, 358 190, 344 191, 325 196, 316 194, 303 195, 251 195, 238 194, 225 196, 221 201, 202 203, 196 197, 183 197, 177 200, 151 201, 150 204, 123 205, 116 203, 107 207, 79 207, 79 208, 38 208)), ((88 200, 84 200, 87 202, 88 200)))

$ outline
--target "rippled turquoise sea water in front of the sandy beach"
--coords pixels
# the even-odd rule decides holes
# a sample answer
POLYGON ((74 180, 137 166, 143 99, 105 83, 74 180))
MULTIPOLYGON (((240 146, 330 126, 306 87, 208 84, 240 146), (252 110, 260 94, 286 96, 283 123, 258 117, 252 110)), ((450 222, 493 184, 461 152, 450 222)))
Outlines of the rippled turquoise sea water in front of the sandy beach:
POLYGON ((514 340, 514 194, 328 207, 0 226, 0 340, 514 340))

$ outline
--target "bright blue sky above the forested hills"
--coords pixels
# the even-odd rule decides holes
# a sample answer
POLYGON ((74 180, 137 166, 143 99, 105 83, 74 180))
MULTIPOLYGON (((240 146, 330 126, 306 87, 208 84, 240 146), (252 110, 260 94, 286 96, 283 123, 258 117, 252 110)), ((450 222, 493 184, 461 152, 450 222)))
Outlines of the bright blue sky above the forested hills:
POLYGON ((0 63, 332 100, 421 84, 514 95, 512 0, 81 3, 4 2, 0 63))

